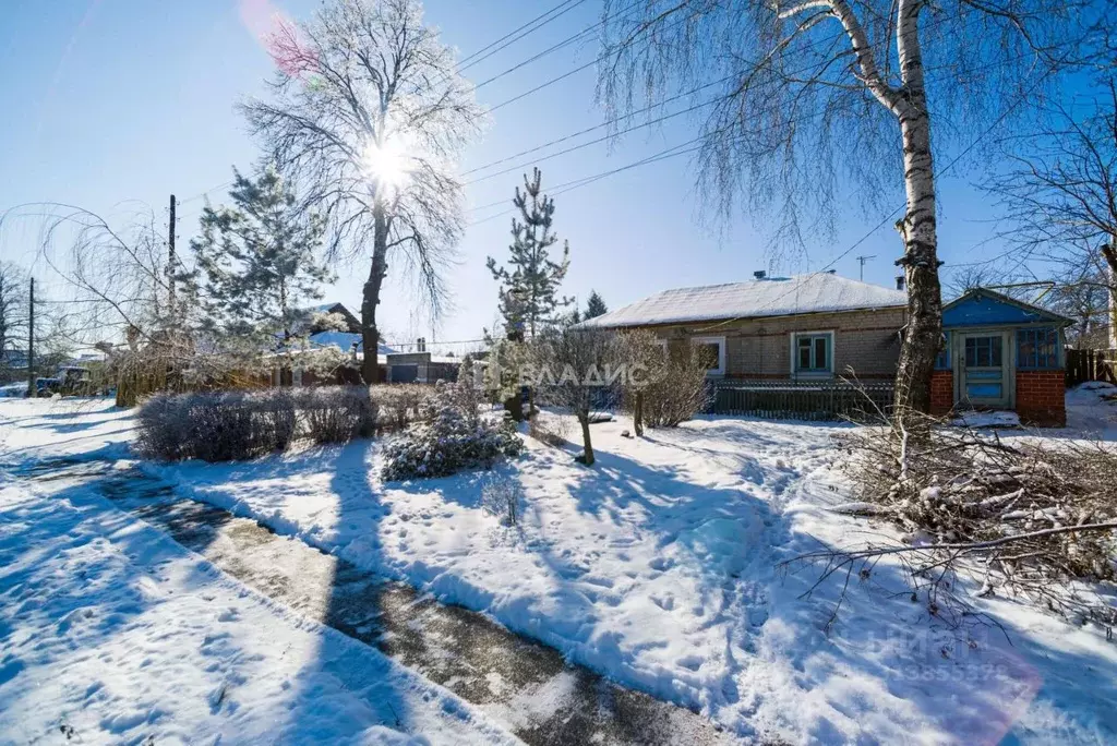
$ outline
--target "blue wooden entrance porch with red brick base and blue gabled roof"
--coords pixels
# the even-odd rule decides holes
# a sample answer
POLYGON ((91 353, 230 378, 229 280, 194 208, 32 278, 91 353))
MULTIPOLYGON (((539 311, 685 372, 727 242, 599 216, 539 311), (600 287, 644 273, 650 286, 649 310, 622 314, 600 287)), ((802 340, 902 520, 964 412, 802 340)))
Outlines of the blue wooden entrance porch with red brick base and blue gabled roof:
POLYGON ((932 412, 958 405, 1011 410, 1025 423, 1065 425, 1065 329, 1072 323, 984 288, 946 304, 932 412))

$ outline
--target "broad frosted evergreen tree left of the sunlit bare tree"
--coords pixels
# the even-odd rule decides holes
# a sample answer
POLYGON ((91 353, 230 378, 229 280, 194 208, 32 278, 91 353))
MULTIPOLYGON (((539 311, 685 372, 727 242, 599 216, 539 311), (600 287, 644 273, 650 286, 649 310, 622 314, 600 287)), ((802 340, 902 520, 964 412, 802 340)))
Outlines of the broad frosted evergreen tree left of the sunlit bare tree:
POLYGON ((323 220, 298 208, 275 169, 256 180, 233 170, 232 207, 201 216, 201 238, 191 242, 202 280, 206 326, 233 337, 288 339, 306 321, 308 300, 330 272, 315 258, 323 220))

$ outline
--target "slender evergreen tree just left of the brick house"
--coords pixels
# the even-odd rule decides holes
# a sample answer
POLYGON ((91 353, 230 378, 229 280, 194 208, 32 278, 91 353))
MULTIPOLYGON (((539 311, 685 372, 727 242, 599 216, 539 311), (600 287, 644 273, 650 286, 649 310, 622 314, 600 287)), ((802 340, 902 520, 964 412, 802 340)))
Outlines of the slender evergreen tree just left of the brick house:
POLYGON ((500 283, 500 315, 509 337, 534 337, 545 325, 556 321, 556 310, 571 304, 555 294, 570 267, 570 246, 563 242, 562 259, 552 261, 548 249, 558 237, 551 232, 554 200, 542 193, 543 174, 534 170, 524 175, 524 191, 516 188, 513 204, 519 218, 512 220, 512 256, 498 267, 489 257, 488 268, 500 283))

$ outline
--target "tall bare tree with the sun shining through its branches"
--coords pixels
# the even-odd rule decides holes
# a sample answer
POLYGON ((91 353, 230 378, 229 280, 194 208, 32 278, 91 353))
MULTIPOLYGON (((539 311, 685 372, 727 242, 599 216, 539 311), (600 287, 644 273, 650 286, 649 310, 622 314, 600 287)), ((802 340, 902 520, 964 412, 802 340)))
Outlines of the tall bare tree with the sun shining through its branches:
POLYGON ((481 111, 418 0, 331 0, 271 39, 274 101, 241 106, 267 160, 325 216, 334 258, 370 256, 361 304, 363 375, 378 375, 376 305, 389 254, 417 272, 432 308, 461 235, 451 165, 481 111))

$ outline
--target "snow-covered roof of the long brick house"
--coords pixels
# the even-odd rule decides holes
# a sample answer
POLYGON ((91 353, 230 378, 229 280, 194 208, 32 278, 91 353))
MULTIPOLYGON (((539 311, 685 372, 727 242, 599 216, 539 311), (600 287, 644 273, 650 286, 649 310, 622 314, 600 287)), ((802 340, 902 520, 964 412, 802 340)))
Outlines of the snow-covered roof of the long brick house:
POLYGON ((617 328, 895 308, 906 304, 907 294, 903 290, 860 283, 829 272, 817 272, 663 290, 623 308, 582 322, 579 326, 617 328))

